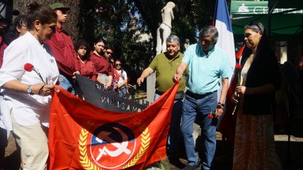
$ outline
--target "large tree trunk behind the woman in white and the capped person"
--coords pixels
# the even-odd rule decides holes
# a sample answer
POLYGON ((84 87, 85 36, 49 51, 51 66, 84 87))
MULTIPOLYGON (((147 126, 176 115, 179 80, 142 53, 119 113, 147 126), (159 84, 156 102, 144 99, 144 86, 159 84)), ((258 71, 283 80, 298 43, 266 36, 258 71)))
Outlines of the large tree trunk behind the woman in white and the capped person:
MULTIPOLYGON (((13 9, 20 11, 20 15, 26 15, 28 11, 28 4, 35 2, 35 0, 15 0, 13 1, 13 9)), ((55 0, 38 0, 39 4, 50 5, 58 2, 55 0)), ((79 13, 80 0, 61 0, 67 7, 71 8, 67 16, 67 23, 64 23, 63 29, 66 30, 75 42, 79 35, 79 13)))

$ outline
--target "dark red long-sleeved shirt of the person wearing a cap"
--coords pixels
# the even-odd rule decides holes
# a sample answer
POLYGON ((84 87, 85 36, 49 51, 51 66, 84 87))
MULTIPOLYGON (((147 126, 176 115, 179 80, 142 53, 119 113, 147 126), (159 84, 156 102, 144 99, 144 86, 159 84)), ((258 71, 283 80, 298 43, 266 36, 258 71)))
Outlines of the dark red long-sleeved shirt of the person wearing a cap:
POLYGON ((77 59, 74 44, 71 37, 64 30, 56 25, 56 32, 49 41, 45 42, 50 46, 60 73, 74 76, 75 71, 80 71, 80 62, 77 59))

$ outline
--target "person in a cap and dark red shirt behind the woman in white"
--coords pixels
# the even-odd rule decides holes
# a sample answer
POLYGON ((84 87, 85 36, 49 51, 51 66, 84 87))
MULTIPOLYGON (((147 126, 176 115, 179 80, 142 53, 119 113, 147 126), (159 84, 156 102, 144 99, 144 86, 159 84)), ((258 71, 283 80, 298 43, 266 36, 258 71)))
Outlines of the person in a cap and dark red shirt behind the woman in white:
POLYGON ((80 63, 76 56, 74 44, 71 37, 62 30, 62 25, 67 20, 67 11, 70 8, 62 3, 51 4, 50 8, 57 13, 56 32, 52 38, 45 42, 50 46, 52 54, 55 56, 59 68, 59 86, 75 94, 74 74, 80 74, 80 63))

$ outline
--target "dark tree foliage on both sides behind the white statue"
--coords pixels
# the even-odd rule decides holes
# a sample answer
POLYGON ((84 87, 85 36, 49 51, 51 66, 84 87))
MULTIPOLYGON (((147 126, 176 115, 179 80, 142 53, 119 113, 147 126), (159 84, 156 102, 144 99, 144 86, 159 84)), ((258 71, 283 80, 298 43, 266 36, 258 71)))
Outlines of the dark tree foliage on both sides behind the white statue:
MULTIPOLYGON (((172 34, 197 42, 198 31, 212 24, 215 11, 213 0, 172 0, 174 8, 172 34)), ((93 44, 103 37, 114 48, 115 59, 120 59, 125 71, 135 83, 155 54, 156 30, 161 23, 161 9, 168 1, 162 0, 81 0, 79 37, 93 44), (138 32, 151 35, 140 41, 138 32), (154 38, 153 38, 154 37, 154 38)), ((92 45, 91 45, 92 47, 92 45)))

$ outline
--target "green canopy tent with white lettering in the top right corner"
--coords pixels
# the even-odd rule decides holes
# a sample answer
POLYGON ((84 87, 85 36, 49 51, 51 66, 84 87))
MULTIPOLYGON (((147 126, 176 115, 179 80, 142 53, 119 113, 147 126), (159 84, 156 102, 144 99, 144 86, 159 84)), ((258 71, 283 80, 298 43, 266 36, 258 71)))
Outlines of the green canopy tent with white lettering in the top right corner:
POLYGON ((244 25, 258 20, 268 28, 270 40, 303 40, 303 1, 231 1, 234 35, 243 37, 244 25))

